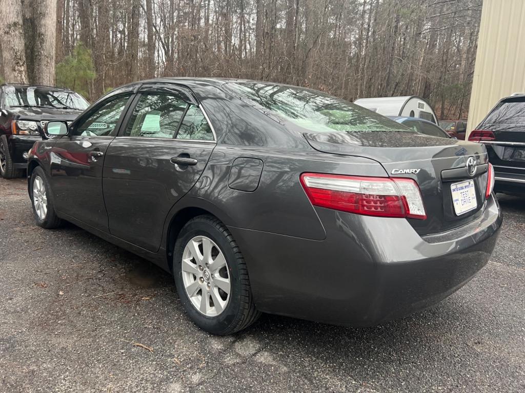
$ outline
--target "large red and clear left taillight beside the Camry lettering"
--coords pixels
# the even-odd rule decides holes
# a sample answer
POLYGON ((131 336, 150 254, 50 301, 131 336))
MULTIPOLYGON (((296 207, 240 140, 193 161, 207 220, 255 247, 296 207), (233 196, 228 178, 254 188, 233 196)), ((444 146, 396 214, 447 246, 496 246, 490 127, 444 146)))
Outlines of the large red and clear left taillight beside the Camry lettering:
POLYGON ((301 184, 313 205, 355 214, 426 219, 413 179, 303 173, 301 184))

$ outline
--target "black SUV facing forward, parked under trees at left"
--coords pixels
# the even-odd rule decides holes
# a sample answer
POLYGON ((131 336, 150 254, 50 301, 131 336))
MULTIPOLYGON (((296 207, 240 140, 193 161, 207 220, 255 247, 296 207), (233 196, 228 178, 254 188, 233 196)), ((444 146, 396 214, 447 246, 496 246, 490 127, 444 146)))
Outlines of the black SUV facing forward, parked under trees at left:
POLYGON ((78 93, 49 86, 0 86, 0 175, 22 176, 27 152, 50 120, 73 121, 89 106, 78 93))

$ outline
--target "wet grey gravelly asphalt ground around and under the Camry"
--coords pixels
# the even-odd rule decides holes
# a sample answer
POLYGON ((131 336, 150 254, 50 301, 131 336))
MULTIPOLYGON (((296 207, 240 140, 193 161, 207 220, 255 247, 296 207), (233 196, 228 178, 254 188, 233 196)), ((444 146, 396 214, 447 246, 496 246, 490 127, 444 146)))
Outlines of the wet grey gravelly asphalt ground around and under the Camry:
POLYGON ((525 199, 499 196, 492 260, 432 309, 368 329, 264 315, 216 337, 164 271, 37 227, 25 180, 0 179, 0 391, 523 392, 525 199))

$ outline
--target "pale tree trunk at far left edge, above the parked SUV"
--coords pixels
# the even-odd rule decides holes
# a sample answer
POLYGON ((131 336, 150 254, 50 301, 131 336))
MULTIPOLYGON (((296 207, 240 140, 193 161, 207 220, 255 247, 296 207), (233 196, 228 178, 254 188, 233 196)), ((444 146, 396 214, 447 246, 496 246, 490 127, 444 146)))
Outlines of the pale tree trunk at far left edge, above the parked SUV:
POLYGON ((0 47, 6 82, 27 83, 22 6, 18 0, 4 0, 0 6, 0 47))

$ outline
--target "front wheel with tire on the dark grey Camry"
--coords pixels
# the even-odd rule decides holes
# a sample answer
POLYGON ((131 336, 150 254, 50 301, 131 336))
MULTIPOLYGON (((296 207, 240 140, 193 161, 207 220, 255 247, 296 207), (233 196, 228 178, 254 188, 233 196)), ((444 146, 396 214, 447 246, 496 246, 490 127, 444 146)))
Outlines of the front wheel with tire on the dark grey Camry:
POLYGON ((61 224, 61 220, 55 213, 53 195, 47 181, 46 173, 40 167, 36 167, 31 173, 30 182, 31 202, 35 222, 43 228, 56 228, 61 224))

